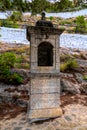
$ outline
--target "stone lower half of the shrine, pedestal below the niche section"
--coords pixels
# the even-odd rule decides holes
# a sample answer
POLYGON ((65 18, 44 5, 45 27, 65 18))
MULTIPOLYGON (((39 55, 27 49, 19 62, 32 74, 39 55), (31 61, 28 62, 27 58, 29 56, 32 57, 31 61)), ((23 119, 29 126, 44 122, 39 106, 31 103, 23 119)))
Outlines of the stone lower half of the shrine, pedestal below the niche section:
POLYGON ((60 108, 60 79, 58 75, 34 75, 31 78, 30 121, 62 115, 60 108))

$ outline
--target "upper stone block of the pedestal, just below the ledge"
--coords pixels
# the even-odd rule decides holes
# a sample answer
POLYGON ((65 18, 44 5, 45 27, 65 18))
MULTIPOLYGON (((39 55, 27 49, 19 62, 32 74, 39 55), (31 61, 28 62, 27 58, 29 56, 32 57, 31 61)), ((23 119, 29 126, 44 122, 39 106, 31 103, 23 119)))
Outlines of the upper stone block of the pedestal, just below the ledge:
POLYGON ((31 94, 60 93, 60 79, 36 77, 31 79, 31 94))

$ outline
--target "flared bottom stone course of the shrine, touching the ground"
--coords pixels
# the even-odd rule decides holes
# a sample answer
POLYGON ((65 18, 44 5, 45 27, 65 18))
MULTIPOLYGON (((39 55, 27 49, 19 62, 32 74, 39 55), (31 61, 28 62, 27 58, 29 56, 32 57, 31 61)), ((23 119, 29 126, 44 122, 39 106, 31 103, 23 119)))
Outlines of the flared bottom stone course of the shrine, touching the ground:
POLYGON ((30 123, 37 122, 41 120, 46 120, 50 118, 55 118, 62 116, 63 112, 60 107, 54 109, 37 109, 37 110, 30 110, 28 119, 30 123))

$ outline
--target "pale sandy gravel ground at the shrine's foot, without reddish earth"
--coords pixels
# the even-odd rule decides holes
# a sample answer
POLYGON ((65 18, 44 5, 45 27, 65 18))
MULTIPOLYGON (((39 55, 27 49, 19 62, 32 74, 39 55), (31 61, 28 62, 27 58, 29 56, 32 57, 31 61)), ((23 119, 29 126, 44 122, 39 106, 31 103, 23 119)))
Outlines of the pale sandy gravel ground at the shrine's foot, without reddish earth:
POLYGON ((10 120, 1 120, 1 130, 87 130, 87 107, 80 104, 67 105, 62 117, 45 122, 29 124, 27 114, 22 113, 10 120))

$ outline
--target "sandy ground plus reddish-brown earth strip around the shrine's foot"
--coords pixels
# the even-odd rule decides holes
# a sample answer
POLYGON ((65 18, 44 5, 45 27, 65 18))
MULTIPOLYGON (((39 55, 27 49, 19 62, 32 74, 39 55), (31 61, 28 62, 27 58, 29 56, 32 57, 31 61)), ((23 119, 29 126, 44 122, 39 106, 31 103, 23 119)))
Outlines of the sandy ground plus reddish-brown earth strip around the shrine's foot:
POLYGON ((36 124, 29 124, 26 109, 9 106, 12 111, 0 120, 0 130, 87 130, 87 95, 65 95, 61 102, 62 117, 36 124))

